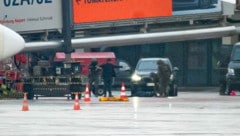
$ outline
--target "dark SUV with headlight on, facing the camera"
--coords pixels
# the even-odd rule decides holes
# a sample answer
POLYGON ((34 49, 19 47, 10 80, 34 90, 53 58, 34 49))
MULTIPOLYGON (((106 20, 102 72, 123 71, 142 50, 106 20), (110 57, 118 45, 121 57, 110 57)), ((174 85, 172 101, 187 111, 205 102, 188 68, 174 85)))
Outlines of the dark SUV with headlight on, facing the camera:
POLYGON ((131 95, 132 96, 154 96, 154 82, 150 73, 157 73, 157 61, 163 60, 171 68, 172 75, 169 84, 169 96, 177 96, 178 86, 176 80, 176 71, 168 58, 142 58, 138 61, 134 74, 131 77, 131 95))

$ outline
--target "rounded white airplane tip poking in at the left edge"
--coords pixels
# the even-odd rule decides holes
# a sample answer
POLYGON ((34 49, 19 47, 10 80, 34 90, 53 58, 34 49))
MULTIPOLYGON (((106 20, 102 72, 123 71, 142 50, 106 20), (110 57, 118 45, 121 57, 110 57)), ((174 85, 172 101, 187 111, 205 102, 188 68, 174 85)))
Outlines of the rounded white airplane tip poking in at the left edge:
POLYGON ((24 47, 22 36, 0 24, 0 61, 21 52, 24 47))

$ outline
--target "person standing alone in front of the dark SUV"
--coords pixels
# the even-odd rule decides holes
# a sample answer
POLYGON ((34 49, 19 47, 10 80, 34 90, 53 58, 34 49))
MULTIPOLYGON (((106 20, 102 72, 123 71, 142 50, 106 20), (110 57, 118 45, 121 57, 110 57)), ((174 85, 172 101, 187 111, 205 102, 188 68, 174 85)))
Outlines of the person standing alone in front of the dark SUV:
POLYGON ((160 96, 168 96, 168 85, 170 82, 171 69, 163 60, 158 60, 158 78, 160 81, 160 96))

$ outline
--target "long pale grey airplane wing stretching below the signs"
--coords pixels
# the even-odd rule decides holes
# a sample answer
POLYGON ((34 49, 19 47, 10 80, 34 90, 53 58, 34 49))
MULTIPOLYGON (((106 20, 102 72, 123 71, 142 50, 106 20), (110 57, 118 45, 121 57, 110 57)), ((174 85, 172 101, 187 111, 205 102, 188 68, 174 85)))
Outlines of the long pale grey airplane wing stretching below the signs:
MULTIPOLYGON (((142 45, 151 43, 174 42, 184 40, 209 39, 231 36, 239 33, 235 26, 182 30, 172 32, 156 32, 128 34, 119 36, 103 36, 95 38, 72 39, 72 47, 77 48, 105 48, 114 46, 142 45)), ((26 43, 23 51, 38 51, 60 48, 63 41, 46 41, 26 43)))

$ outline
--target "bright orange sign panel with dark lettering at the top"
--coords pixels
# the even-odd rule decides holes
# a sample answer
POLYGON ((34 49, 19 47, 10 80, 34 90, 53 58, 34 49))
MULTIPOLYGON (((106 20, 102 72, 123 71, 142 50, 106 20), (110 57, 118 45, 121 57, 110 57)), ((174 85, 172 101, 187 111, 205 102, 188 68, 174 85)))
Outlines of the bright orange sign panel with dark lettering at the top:
POLYGON ((172 0, 73 0, 75 24, 171 15, 172 0))

